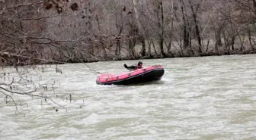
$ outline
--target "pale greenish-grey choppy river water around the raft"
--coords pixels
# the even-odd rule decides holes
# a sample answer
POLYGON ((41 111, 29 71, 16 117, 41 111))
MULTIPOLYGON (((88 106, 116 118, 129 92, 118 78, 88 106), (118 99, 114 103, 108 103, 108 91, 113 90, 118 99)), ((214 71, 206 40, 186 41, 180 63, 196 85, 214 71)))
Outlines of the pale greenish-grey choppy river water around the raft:
MULTIPOLYGON (((256 139, 256 55, 144 60, 161 64, 161 81, 99 86, 85 64, 59 65, 56 112, 41 99, 6 105, 0 96, 0 139, 256 139), (63 76, 63 75, 66 76, 63 76), (72 102, 66 101, 72 95, 72 102), (61 97, 61 98, 60 98, 61 97), (43 105, 42 105, 43 104, 43 105)), ((114 61, 88 64, 101 73, 127 71, 114 61)))

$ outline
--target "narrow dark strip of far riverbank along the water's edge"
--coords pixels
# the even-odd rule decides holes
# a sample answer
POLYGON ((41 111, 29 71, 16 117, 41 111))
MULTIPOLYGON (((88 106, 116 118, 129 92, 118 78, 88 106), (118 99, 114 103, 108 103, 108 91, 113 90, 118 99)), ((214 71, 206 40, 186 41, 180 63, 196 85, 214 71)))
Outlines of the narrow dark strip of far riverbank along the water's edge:
MULTIPOLYGON (((219 52, 214 52, 214 51, 207 51, 204 53, 173 53, 173 54, 165 54, 165 56, 162 55, 156 55, 156 54, 151 54, 151 55, 146 55, 145 57, 141 57, 139 55, 130 58, 128 56, 124 57, 107 57, 107 58, 94 58, 90 60, 82 60, 82 59, 76 59, 76 60, 67 60, 67 61, 62 61, 62 60, 54 60, 54 59, 45 59, 45 58, 27 58, 27 61, 30 61, 30 63, 22 63, 22 61, 18 61, 16 64, 4 64, 0 63, 2 66, 28 66, 28 65, 43 65, 43 64, 78 64, 78 63, 94 63, 98 61, 132 61, 132 60, 147 60, 147 59, 159 59, 159 58, 194 58, 194 57, 207 57, 207 56, 222 56, 222 55, 232 55, 232 54, 256 54, 256 51, 249 49, 246 51, 239 51, 238 49, 233 50, 233 51, 219 51, 219 52)), ((2 56, 4 56, 2 54, 2 56)), ((10 59, 17 60, 18 58, 23 58, 22 56, 14 56, 10 59)), ((23 58, 24 61, 26 59, 23 58)))

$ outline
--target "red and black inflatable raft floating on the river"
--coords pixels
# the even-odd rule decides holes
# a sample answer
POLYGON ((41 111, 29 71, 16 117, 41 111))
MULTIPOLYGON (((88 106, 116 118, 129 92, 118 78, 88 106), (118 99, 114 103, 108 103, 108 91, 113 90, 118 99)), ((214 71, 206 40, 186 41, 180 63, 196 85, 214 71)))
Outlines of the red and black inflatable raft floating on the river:
POLYGON ((161 65, 154 65, 127 73, 101 74, 96 79, 96 83, 98 85, 130 85, 141 82, 152 82, 161 79, 164 73, 165 70, 161 65))

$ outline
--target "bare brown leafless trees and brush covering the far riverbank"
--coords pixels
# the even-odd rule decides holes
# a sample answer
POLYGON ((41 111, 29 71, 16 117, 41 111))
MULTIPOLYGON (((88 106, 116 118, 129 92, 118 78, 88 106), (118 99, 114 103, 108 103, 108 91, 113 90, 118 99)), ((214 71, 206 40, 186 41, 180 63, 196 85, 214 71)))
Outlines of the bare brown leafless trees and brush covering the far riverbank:
POLYGON ((0 64, 255 52, 256 2, 0 1, 0 64))

